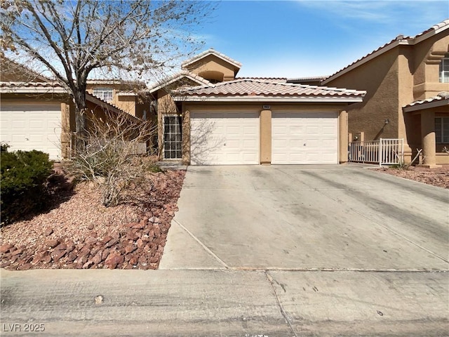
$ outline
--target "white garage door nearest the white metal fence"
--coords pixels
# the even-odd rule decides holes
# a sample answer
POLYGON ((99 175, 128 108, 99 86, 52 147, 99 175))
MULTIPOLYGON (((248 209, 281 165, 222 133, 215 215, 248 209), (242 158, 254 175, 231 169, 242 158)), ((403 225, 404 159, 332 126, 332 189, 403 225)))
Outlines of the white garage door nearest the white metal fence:
POLYGON ((337 112, 274 112, 272 164, 337 164, 337 112))

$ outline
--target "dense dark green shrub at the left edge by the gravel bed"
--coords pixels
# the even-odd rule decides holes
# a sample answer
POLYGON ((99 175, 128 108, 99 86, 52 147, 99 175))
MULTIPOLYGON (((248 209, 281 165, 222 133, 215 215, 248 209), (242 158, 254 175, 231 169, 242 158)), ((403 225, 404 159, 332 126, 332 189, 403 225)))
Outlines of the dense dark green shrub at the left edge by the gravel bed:
POLYGON ((53 163, 41 151, 8 152, 1 146, 1 223, 41 211, 47 204, 46 180, 53 163))

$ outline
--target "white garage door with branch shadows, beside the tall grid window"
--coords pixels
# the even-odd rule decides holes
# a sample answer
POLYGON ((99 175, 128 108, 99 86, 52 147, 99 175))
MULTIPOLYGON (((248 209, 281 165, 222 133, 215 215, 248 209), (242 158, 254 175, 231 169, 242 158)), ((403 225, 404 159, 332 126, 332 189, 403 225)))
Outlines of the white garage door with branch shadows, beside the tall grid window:
POLYGON ((259 164, 259 112, 191 112, 192 165, 259 164))

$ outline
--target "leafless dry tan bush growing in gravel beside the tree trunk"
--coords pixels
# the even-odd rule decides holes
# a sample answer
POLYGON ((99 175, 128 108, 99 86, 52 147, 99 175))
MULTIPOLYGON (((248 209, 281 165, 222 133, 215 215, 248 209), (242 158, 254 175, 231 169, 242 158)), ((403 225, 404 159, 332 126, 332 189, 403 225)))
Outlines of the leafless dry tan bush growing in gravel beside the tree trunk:
POLYGON ((86 136, 75 136, 77 146, 65 170, 79 180, 91 180, 102 189, 102 204, 116 206, 123 191, 144 179, 148 144, 156 132, 152 121, 126 114, 88 114, 86 136))

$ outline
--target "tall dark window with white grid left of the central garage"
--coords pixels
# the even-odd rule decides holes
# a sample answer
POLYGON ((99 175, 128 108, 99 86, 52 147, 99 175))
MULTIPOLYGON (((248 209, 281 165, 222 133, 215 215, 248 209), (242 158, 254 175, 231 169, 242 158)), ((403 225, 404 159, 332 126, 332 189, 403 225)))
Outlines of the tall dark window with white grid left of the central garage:
POLYGON ((163 157, 182 158, 182 131, 180 116, 163 117, 163 157))

